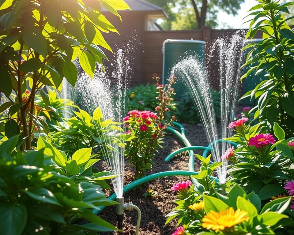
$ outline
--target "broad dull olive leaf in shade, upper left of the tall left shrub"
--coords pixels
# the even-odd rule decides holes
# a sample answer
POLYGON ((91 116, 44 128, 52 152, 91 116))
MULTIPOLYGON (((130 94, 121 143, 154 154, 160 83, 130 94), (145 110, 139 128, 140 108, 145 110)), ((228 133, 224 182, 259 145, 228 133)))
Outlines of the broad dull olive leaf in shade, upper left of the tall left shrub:
POLYGON ((41 54, 44 58, 47 55, 47 41, 39 27, 25 28, 22 32, 24 43, 41 54))

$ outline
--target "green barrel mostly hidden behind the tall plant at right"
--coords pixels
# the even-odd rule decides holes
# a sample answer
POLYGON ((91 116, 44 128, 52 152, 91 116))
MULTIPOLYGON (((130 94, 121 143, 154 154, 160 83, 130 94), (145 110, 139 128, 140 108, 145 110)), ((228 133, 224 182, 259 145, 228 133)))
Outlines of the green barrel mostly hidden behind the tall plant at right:
MULTIPOLYGON (((252 40, 247 40, 245 42, 245 45, 248 45, 249 43, 255 42, 255 43, 260 43, 262 42, 263 39, 252 39, 252 40)), ((246 57, 247 54, 253 49, 253 47, 247 48, 244 52, 245 52, 245 60, 244 63, 246 62, 246 57)), ((248 65, 244 68, 243 74, 247 73, 247 71, 249 70, 249 68, 251 68, 252 66, 256 66, 258 65, 258 62, 252 64, 252 65, 248 65)), ((256 72, 256 71, 255 71, 256 72)), ((258 85, 261 81, 265 80, 266 77, 264 76, 266 74, 266 72, 264 73, 260 73, 257 76, 254 75, 255 73, 252 72, 249 76, 247 76, 247 78, 244 78, 242 80, 242 95, 245 95, 248 91, 253 90, 256 85, 258 85)), ((250 101, 250 97, 241 100, 241 103, 243 106, 254 106, 257 104, 258 99, 256 99, 255 101, 250 101)))

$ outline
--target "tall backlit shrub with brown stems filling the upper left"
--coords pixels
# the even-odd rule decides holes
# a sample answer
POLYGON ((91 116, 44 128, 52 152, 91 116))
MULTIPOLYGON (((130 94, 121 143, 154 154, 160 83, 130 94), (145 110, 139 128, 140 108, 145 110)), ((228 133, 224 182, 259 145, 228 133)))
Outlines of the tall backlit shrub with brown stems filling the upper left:
MULTIPOLYGON (((9 99, 1 110, 10 111, 9 119, 2 121, 6 136, 22 132, 26 138, 23 148, 31 150, 31 138, 42 111, 35 105, 36 92, 45 97, 40 88, 47 85, 58 89, 63 77, 74 86, 77 68, 72 61, 77 57, 85 73, 93 76, 96 62, 106 58, 97 45, 111 50, 100 30, 117 32, 101 13, 101 6, 118 17, 118 9, 130 9, 123 0, 115 2, 1 1, 0 91, 9 99), (29 95, 25 93, 27 84, 29 95), (14 100, 10 98, 12 91, 16 94, 14 100)), ((40 124, 45 123, 40 120, 40 124)))

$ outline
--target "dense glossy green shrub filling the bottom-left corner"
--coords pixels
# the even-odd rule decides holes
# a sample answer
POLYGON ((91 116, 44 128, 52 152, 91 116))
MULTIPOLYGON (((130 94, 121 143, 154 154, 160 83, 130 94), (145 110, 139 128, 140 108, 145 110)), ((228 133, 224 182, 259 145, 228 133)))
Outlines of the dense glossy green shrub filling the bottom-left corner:
POLYGON ((12 136, 0 145, 2 234, 65 235, 69 231, 77 234, 84 230, 89 233, 115 230, 92 212, 98 206, 115 202, 100 190, 97 174, 90 178, 86 172, 85 166, 93 163, 89 155, 82 159, 80 152, 76 152, 78 159, 75 156, 66 159, 64 153, 41 138, 38 151, 21 153, 22 141, 19 135, 12 136), (74 162, 81 167, 79 172, 74 172, 74 162), (60 167, 67 173, 60 174, 63 171, 60 167), (77 218, 89 223, 76 223, 77 218))

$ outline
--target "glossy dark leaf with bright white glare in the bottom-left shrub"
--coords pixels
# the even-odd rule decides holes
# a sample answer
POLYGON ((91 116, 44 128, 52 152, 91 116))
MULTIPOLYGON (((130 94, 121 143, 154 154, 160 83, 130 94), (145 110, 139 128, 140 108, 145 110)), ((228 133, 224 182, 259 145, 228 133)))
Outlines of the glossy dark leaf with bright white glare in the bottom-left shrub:
POLYGON ((29 188, 28 190, 23 190, 23 192, 43 203, 61 206, 54 194, 46 188, 29 188))

